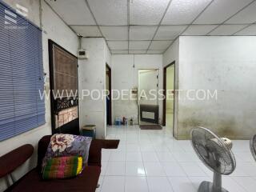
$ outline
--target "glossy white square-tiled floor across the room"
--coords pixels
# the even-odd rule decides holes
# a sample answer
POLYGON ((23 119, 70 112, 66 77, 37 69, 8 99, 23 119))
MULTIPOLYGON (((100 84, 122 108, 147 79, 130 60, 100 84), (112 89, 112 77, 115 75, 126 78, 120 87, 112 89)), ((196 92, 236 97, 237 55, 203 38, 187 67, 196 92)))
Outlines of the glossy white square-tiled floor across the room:
MULTIPOLYGON (((190 141, 177 141, 171 130, 140 130, 138 126, 110 126, 107 138, 120 139, 117 150, 102 150, 98 192, 196 192, 212 180, 190 141)), ((256 162, 249 141, 233 141, 237 168, 222 178, 230 192, 256 191, 256 162)))

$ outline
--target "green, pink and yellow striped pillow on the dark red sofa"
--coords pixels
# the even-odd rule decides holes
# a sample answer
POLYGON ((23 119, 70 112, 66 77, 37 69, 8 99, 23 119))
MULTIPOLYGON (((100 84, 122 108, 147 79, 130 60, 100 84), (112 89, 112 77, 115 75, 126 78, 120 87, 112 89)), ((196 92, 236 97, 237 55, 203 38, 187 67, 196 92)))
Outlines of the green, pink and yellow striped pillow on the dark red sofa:
POLYGON ((43 179, 72 178, 82 171, 82 157, 50 158, 42 170, 43 179))

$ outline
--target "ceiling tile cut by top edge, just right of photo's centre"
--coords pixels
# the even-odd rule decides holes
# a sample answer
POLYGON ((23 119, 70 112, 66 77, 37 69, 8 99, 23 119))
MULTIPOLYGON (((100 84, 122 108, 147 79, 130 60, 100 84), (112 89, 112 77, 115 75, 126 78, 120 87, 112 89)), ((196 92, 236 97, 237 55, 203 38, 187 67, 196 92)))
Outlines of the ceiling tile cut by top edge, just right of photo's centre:
POLYGON ((133 0, 130 1, 131 25, 158 25, 169 0, 133 0))

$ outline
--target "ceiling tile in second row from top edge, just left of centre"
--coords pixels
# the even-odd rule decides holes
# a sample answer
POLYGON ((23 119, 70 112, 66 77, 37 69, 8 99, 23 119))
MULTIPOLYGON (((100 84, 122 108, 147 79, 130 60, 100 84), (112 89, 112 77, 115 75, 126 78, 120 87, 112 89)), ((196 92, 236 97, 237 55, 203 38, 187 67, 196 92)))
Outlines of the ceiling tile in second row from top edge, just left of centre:
POLYGON ((106 40, 128 40, 128 26, 100 26, 106 40))

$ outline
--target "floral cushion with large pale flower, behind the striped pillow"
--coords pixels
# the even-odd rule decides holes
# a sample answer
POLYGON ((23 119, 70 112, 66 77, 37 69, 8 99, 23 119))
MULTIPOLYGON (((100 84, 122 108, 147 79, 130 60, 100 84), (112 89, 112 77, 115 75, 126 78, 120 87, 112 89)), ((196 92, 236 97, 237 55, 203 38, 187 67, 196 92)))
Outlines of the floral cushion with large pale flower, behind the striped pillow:
POLYGON ((54 134, 50 138, 45 158, 42 161, 42 170, 51 158, 80 156, 82 165, 86 166, 89 157, 90 142, 92 138, 73 134, 54 134))

